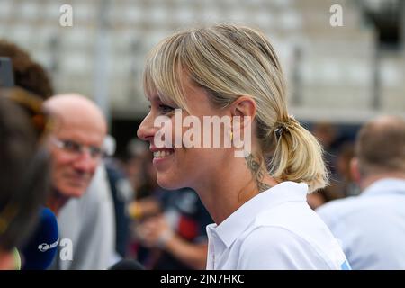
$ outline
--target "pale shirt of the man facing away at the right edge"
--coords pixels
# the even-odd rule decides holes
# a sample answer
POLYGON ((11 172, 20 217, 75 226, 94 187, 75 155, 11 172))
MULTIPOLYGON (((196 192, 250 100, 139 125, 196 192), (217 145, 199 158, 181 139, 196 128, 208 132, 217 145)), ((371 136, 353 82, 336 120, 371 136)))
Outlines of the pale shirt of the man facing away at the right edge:
POLYGON ((353 269, 405 269, 405 180, 386 178, 320 206, 353 269))

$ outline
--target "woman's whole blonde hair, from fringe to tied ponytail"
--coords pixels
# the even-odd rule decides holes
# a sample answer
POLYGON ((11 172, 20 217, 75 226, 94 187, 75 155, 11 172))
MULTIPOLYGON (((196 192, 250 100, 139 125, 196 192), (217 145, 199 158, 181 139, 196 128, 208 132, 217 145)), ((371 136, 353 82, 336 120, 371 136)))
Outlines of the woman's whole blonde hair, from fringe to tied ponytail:
POLYGON ((227 107, 240 95, 256 101, 257 137, 276 180, 305 182, 310 192, 328 183, 319 142, 287 112, 283 71, 263 33, 226 23, 176 32, 150 52, 145 93, 187 110, 184 73, 217 107, 227 107), (278 138, 279 126, 284 133, 278 138))

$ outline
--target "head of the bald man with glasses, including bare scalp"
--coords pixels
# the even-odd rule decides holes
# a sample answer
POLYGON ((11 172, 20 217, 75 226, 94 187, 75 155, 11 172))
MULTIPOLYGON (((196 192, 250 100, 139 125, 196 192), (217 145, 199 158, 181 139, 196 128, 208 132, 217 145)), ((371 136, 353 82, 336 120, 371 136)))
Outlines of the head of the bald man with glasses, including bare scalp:
POLYGON ((81 197, 103 157, 107 124, 99 108, 77 94, 49 98, 45 107, 55 116, 49 137, 52 185, 49 208, 58 214, 70 198, 81 197))

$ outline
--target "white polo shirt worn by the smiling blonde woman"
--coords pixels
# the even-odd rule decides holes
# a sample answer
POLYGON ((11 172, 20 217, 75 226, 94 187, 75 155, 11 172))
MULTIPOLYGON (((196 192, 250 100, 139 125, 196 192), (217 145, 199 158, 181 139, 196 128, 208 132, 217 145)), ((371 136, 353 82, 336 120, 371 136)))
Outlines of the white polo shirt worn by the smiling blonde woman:
POLYGON ((350 269, 307 193, 307 184, 277 184, 208 225, 207 269, 350 269))

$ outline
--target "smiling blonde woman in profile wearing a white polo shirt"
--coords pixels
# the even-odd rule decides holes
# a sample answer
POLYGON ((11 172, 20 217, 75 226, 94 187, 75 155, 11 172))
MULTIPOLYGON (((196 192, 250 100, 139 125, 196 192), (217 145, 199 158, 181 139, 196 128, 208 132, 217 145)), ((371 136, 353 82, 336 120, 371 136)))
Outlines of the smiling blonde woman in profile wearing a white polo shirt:
POLYGON ((176 32, 148 56, 144 88, 150 112, 138 136, 150 143, 157 183, 193 188, 215 221, 208 269, 349 268, 306 202, 328 182, 322 150, 287 112, 263 33, 232 24, 176 32), (223 129, 195 127, 207 119, 223 129))

